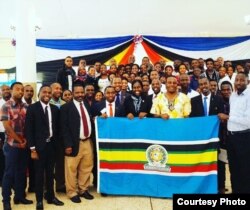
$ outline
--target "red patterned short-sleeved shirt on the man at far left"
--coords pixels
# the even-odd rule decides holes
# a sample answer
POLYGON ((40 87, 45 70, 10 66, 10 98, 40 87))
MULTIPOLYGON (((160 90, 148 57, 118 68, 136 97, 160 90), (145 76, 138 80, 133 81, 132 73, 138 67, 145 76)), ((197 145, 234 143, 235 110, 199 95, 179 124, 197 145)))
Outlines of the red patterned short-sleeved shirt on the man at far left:
MULTIPOLYGON (((25 116, 28 105, 21 102, 16 103, 13 99, 7 101, 1 108, 1 121, 10 121, 10 126, 14 132, 24 137, 25 116)), ((7 143, 11 146, 18 146, 18 142, 6 132, 7 143)))

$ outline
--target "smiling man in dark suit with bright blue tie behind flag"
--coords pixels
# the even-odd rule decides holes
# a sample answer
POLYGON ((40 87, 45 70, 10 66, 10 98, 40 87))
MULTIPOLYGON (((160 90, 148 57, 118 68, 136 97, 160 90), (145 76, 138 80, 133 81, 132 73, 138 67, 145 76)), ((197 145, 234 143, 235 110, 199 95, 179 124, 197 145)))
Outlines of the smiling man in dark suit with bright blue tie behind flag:
POLYGON ((199 79, 199 88, 201 94, 191 99, 192 111, 189 116, 201 117, 223 113, 223 101, 211 93, 207 78, 199 79))

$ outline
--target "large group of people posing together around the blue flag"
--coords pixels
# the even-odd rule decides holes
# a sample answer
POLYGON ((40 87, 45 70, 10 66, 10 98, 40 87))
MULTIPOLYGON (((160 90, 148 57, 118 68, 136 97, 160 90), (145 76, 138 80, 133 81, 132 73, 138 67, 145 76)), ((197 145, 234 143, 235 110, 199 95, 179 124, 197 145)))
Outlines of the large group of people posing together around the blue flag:
MULTIPOLYGON (((14 204, 32 204, 25 190, 35 192, 38 210, 44 208, 43 199, 64 205, 55 191, 66 193, 74 203, 81 197, 94 199, 89 187, 91 174, 97 185, 97 116, 167 120, 217 115, 218 153, 227 150, 232 193, 250 193, 249 69, 248 62, 233 66, 222 57, 175 60, 173 66, 164 60, 152 65, 144 57, 139 66, 131 55, 126 65, 112 59, 109 68, 100 62, 87 66, 81 59, 76 72, 68 56, 57 81, 41 86, 37 102, 31 85, 2 85, 3 209, 11 210, 12 189, 14 204)), ((225 162, 218 159, 218 193, 225 190, 225 162)))

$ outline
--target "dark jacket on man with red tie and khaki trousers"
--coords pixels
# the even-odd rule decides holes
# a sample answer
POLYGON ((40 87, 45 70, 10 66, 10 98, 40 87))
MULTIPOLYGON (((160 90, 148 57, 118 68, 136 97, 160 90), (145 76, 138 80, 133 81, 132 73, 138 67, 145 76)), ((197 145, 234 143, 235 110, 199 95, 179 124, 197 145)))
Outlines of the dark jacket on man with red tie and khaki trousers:
MULTIPOLYGON (((84 102, 84 106, 89 113, 91 121, 91 138, 93 135, 93 122, 92 115, 90 112, 90 107, 88 103, 84 102)), ((79 137, 80 137, 80 125, 81 125, 81 116, 74 104, 73 101, 68 102, 61 106, 60 109, 60 127, 61 127, 61 136, 64 142, 64 148, 72 147, 72 153, 69 156, 75 157, 79 152, 79 137)))

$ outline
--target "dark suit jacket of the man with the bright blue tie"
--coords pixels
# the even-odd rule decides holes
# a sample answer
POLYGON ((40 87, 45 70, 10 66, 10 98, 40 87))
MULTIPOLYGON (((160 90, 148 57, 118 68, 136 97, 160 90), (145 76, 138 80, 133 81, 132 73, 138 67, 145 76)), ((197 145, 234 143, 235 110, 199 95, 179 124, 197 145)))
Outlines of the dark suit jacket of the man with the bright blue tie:
MULTIPOLYGON (((201 117, 205 116, 203 109, 203 101, 202 96, 196 96, 191 99, 191 107, 192 111, 190 113, 190 117, 201 117)), ((217 95, 211 95, 209 112, 208 115, 217 115, 219 113, 223 113, 223 101, 222 98, 217 95)))

